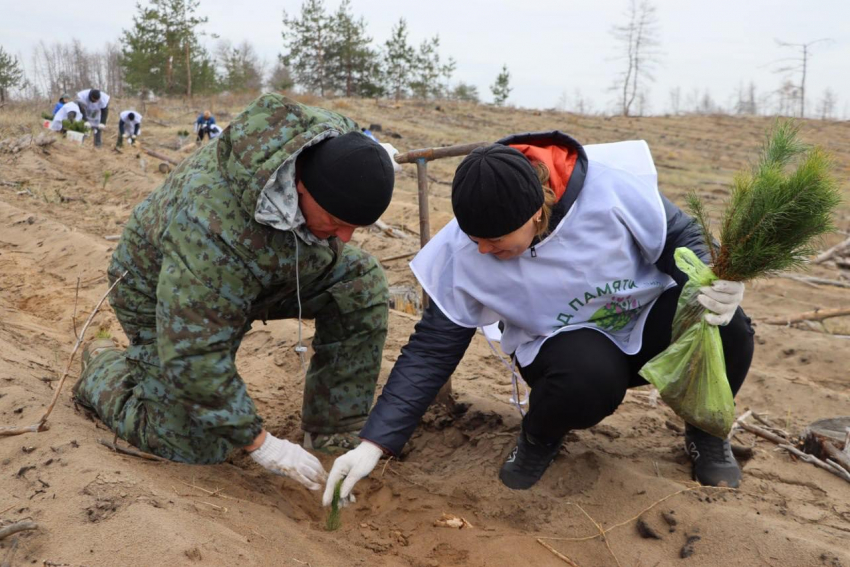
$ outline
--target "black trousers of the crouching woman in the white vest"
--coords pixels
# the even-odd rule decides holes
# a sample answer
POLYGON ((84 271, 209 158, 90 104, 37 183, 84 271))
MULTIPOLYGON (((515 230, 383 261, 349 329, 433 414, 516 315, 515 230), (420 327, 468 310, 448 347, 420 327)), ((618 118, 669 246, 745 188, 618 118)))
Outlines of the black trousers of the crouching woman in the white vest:
MULTIPOLYGON (((626 390, 646 385, 638 371, 670 344, 673 315, 681 287, 658 298, 643 330, 641 350, 624 354, 608 337, 593 329, 564 332, 543 343, 534 361, 520 368, 531 388, 523 430, 545 442, 559 440, 571 429, 586 429, 614 413, 626 390)), ((732 321, 720 327, 726 376, 737 394, 753 359, 749 317, 738 308, 732 321)))

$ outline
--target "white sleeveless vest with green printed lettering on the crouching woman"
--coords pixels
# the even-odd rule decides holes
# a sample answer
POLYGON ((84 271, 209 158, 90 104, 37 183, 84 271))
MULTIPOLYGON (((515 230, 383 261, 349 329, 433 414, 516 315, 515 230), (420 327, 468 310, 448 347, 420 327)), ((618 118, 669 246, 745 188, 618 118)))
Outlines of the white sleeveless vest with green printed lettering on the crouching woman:
POLYGON ((410 263, 455 324, 505 324, 502 350, 521 366, 558 333, 595 329, 626 354, 640 350, 649 310, 676 285, 655 267, 667 236, 646 142, 585 146, 578 199, 545 240, 509 260, 478 252, 452 220, 410 263))

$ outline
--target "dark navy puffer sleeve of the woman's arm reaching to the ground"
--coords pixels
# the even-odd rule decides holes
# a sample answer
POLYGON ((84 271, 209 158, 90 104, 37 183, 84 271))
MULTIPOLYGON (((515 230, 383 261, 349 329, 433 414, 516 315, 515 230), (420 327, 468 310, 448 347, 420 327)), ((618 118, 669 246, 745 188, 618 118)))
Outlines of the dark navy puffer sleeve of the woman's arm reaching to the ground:
POLYGON ((402 347, 360 437, 398 455, 474 335, 475 329, 455 324, 431 302, 402 347))

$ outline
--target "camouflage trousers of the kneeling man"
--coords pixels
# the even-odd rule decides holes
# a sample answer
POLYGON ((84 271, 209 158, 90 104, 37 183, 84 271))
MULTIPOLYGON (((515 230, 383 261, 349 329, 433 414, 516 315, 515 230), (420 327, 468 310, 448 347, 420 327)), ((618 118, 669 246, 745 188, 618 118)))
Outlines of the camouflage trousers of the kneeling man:
MULTIPOLYGON (((227 440, 193 424, 192 410, 176 402, 161 377, 156 354, 153 301, 119 283, 110 297, 131 339, 124 351, 100 352, 74 387, 77 401, 128 443, 179 462, 222 462, 227 440)), ((302 427, 311 433, 359 431, 366 422, 387 335, 388 291, 377 260, 352 246, 322 278, 301 288, 301 316, 314 319, 313 356, 304 384, 302 427)), ((287 297, 257 318, 298 317, 298 300, 287 297)), ((242 333, 248 331, 250 325, 242 333)), ((234 347, 238 348, 238 345, 234 347)))

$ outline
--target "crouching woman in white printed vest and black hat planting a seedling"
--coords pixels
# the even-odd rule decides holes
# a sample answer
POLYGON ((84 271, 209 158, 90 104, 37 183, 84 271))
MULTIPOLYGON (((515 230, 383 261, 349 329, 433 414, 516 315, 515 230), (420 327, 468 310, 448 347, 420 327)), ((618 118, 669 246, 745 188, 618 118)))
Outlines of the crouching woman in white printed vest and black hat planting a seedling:
MULTIPOLYGON (((511 136, 479 148, 452 183, 455 220, 411 263, 431 297, 361 431, 339 457, 325 492, 341 494, 398 454, 449 379, 476 328, 498 323, 502 350, 531 387, 517 444, 499 478, 534 485, 564 435, 611 415, 649 359, 670 343, 687 280, 673 252, 705 261, 700 230, 658 191, 643 141, 582 147, 561 132, 511 136)), ((703 288, 706 320, 720 326, 726 370, 737 392, 749 370, 753 330, 739 308, 743 285, 703 288)), ((694 475, 736 487, 729 442, 688 426, 694 475)))

